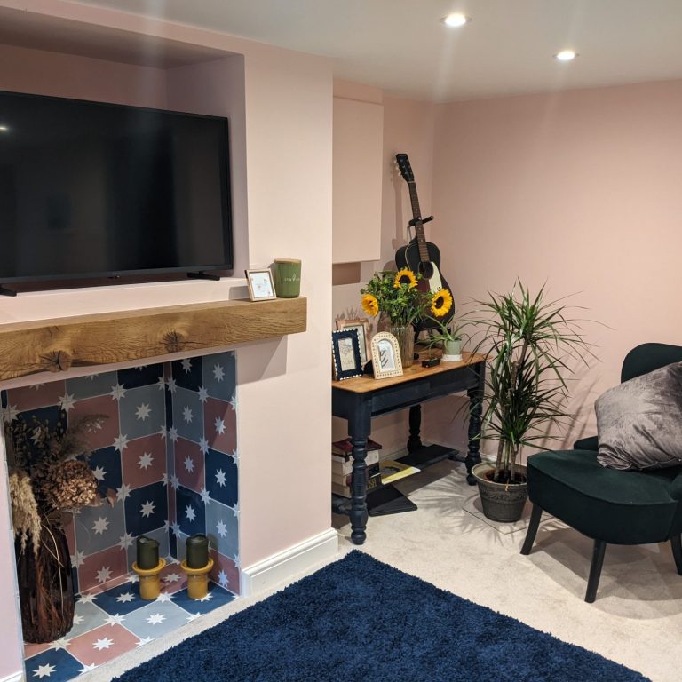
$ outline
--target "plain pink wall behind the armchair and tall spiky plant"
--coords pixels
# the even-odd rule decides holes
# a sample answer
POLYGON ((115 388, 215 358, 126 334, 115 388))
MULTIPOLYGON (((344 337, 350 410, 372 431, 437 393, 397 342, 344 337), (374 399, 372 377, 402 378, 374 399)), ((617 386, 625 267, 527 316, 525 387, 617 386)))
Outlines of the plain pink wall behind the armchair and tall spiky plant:
POLYGON ((432 237, 457 298, 520 277, 576 293, 600 362, 573 389, 567 437, 627 351, 682 342, 682 82, 438 107, 432 237))

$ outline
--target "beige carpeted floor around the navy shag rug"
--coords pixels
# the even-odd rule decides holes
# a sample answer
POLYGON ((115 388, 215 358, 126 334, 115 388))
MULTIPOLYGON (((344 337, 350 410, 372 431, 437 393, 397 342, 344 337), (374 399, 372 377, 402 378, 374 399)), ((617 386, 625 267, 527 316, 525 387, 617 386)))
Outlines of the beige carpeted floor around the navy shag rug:
MULTIPOLYGON (((419 509, 370 518, 362 551, 639 670, 653 682, 682 678, 682 577, 670 544, 608 547, 597 601, 585 604, 591 542, 582 535, 555 519, 543 520, 534 551, 521 556, 525 524, 509 532, 482 519, 463 464, 437 464, 399 487, 419 509)), ((354 549, 347 519, 335 516, 334 525, 340 553, 354 549)), ((152 642, 79 679, 109 680, 255 601, 240 599, 191 623, 196 625, 191 633, 184 631, 163 646, 152 642)))

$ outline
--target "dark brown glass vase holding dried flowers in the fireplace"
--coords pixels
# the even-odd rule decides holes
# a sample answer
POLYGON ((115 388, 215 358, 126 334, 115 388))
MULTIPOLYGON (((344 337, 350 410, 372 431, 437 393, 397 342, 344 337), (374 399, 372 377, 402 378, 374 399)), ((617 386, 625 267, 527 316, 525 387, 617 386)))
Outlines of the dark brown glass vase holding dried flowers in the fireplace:
POLYGON ((14 544, 24 641, 36 644, 64 637, 74 624, 74 581, 67 535, 44 521, 38 554, 33 543, 14 544))

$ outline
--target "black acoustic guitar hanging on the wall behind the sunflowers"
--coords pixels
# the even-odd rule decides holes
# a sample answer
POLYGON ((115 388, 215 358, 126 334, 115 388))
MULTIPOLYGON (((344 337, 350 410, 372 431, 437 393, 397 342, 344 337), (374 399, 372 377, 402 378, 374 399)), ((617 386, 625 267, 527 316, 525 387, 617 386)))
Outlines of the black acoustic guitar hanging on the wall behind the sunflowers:
MULTIPOLYGON (((419 280, 418 287, 422 291, 435 294, 440 289, 448 289, 451 292, 452 289, 448 286, 448 282, 440 273, 440 250, 434 243, 427 242, 424 236, 424 223, 430 222, 433 216, 422 218, 421 210, 419 210, 419 198, 416 194, 415 176, 409 164, 408 155, 396 154, 395 160, 398 163, 400 175, 408 183, 409 202, 412 206, 412 219, 409 221, 409 225, 415 228, 415 238, 395 252, 395 264, 399 269, 408 267, 412 272, 420 273, 422 279, 419 280)), ((452 305, 448 313, 440 318, 440 321, 448 322, 454 314, 455 305, 452 305)), ((436 327, 438 327, 436 322, 427 319, 420 322, 417 330, 435 329, 436 327)))

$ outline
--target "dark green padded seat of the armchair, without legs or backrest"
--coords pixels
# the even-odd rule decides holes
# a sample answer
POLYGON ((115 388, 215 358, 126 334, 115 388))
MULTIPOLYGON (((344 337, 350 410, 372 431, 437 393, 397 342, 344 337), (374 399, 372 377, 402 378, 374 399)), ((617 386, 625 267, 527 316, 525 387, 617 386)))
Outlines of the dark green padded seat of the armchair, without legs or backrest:
POLYGON ((588 537, 640 544, 682 532, 682 467, 623 472, 603 467, 595 451, 559 450, 529 456, 527 477, 531 502, 588 537))

